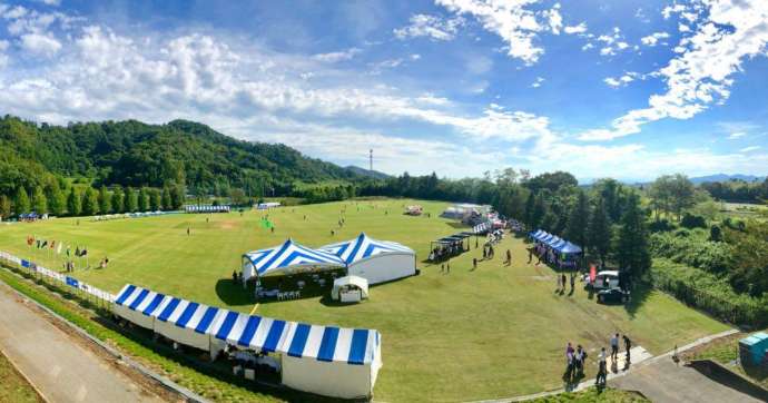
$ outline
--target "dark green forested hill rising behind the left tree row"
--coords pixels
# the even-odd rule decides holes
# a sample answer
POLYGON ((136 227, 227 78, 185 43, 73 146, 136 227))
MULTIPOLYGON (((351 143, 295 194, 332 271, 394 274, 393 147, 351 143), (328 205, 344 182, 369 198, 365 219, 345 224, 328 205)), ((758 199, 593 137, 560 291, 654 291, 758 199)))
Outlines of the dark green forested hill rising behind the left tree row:
POLYGON ((216 194, 219 188, 252 194, 275 188, 279 194, 295 181, 363 178, 284 145, 236 140, 186 120, 63 127, 0 119, 0 193, 18 185, 31 189, 50 176, 91 178, 95 186, 161 187, 173 181, 216 194))

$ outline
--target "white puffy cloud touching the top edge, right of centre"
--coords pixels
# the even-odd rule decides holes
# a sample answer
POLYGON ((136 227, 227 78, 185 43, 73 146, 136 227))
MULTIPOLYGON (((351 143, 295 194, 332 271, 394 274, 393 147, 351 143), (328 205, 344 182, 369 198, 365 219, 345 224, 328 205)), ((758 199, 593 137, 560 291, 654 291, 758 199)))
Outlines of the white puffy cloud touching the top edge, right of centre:
MULTIPOLYGON (((526 65, 533 65, 539 61, 539 57, 544 52, 543 48, 533 43, 536 33, 542 31, 544 26, 536 19, 536 12, 526 9, 528 6, 534 4, 535 0, 493 2, 481 0, 435 0, 435 2, 456 14, 470 14, 476 18, 485 30, 501 37, 508 46, 509 56, 520 59, 526 65)), ((555 11, 557 8, 552 8, 545 10, 547 16, 543 13, 540 13, 540 16, 549 17, 555 11)), ((559 12, 557 14, 559 16, 559 12)), ((545 23, 552 29, 550 22, 545 23)))

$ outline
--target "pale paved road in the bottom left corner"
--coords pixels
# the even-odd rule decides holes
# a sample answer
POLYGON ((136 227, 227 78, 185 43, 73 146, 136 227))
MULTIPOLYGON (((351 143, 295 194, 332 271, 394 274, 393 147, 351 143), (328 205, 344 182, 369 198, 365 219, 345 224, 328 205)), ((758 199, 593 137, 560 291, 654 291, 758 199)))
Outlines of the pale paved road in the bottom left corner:
POLYGON ((0 282, 0 350, 49 402, 161 402, 0 282))

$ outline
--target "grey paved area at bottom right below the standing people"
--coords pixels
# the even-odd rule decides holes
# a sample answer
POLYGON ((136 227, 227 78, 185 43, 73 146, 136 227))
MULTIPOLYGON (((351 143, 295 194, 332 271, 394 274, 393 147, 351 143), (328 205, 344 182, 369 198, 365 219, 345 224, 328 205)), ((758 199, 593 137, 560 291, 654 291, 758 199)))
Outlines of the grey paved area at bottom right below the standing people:
POLYGON ((760 402, 717 383, 698 371, 676 365, 663 357, 632 368, 627 375, 609 381, 613 387, 640 391, 651 402, 760 402))

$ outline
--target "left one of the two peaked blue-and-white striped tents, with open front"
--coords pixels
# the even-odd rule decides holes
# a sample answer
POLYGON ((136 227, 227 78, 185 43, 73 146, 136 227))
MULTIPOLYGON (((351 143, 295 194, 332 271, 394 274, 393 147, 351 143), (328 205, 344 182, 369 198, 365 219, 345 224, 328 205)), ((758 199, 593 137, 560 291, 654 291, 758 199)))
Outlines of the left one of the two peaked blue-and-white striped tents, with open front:
POLYGON ((344 266, 344 261, 334 254, 312 249, 288 239, 283 245, 243 255, 243 279, 344 266))

